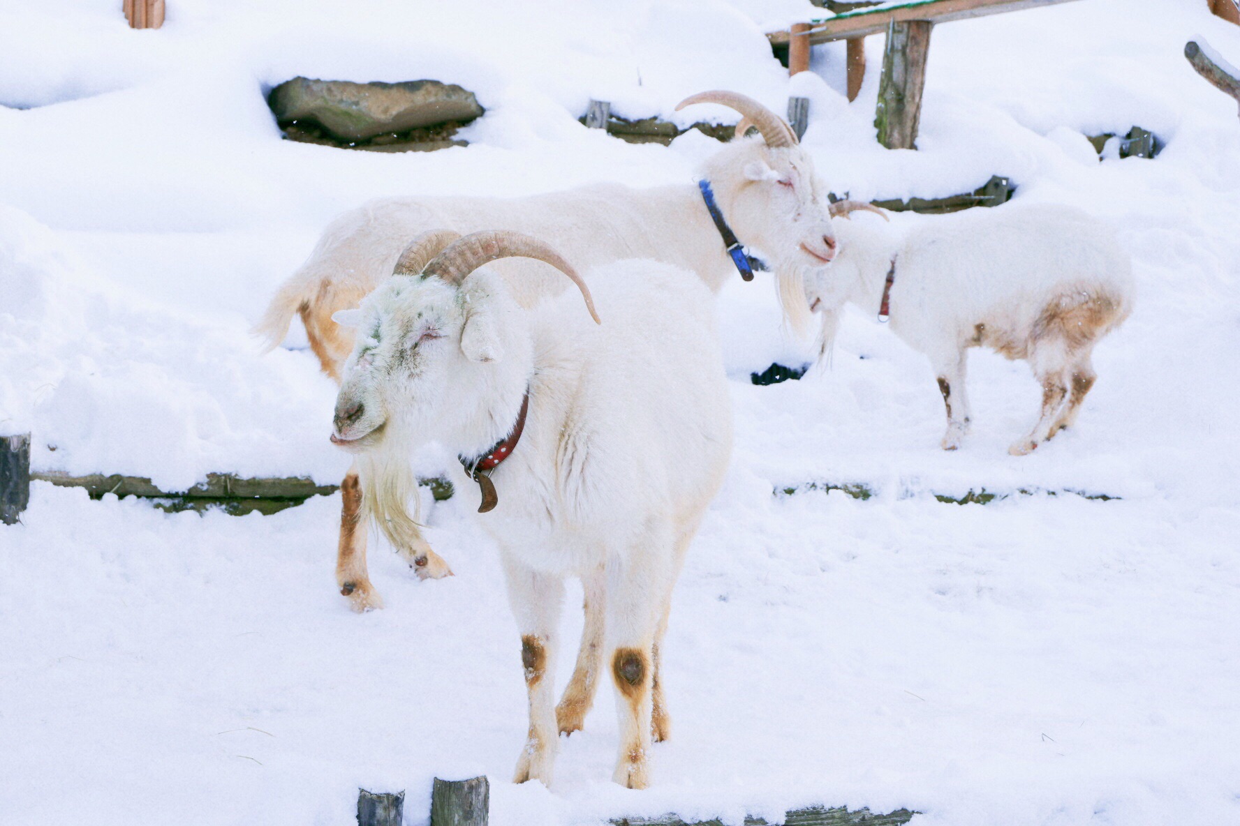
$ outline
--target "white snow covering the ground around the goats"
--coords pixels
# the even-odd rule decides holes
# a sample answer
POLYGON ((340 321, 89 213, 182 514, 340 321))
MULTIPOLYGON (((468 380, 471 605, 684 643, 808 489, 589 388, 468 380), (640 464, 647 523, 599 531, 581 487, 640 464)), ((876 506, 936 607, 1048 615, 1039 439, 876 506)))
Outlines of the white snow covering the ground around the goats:
MULTIPOLYGON (((1204 0, 936 28, 918 152, 874 144, 877 71, 849 104, 842 45, 791 80, 770 57, 763 31, 821 14, 800 0, 170 0, 157 32, 114 6, 0 9, 0 430, 33 431, 41 469, 339 479, 334 386, 296 333, 268 355, 246 336, 267 297, 366 198, 689 181, 717 146, 585 130, 591 97, 634 118, 707 88, 808 97, 835 192, 1007 175, 1112 223, 1140 296, 1079 428, 1013 458, 1038 395, 1023 364, 975 352, 975 432, 944 453, 928 367, 864 313, 828 372, 748 384, 810 348, 768 285, 730 284, 737 451, 677 591, 676 734, 640 793, 608 781, 606 691, 552 790, 506 783, 520 651, 465 497, 430 515, 458 576, 418 583, 376 547, 388 608, 358 617, 332 587, 336 498, 238 519, 38 483, 0 529, 0 822, 348 824, 363 785, 408 789, 419 824, 432 776, 484 772, 496 824, 815 802, 915 825, 1240 822, 1240 123, 1182 56, 1204 36, 1235 62, 1240 28, 1204 0), (489 111, 464 149, 290 144, 264 93, 294 74, 434 77, 489 111), (1135 124, 1158 159, 1099 162, 1085 136, 1135 124), (773 495, 811 480, 878 495, 773 495), (930 495, 981 488, 1122 500, 930 495)), ((868 50, 877 69, 882 37, 868 50)))

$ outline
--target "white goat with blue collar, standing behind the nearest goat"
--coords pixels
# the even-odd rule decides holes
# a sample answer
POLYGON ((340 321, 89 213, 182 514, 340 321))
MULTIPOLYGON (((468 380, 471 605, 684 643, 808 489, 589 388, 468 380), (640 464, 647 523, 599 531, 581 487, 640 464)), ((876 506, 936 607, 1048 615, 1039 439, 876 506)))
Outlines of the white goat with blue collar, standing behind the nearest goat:
MULTIPOLYGON (((699 170, 711 183, 723 219, 742 244, 759 251, 779 276, 781 297, 792 317, 801 306, 801 272, 835 256, 836 239, 826 188, 796 135, 776 114, 733 92, 706 92, 680 104, 717 103, 742 113, 760 135, 719 149, 699 170)), ((696 272, 712 291, 735 277, 737 266, 694 183, 634 189, 600 183, 528 198, 418 197, 381 198, 335 219, 309 260, 280 287, 257 332, 275 347, 300 315, 310 346, 325 373, 340 378, 352 350, 350 331, 332 313, 356 307, 386 281, 410 238, 430 229, 471 233, 510 229, 553 244, 579 267, 630 258, 653 259, 696 272)), ((563 290, 546 267, 521 260, 497 261, 494 271, 508 282, 523 307, 563 290)), ((356 611, 382 601, 366 570, 366 528, 357 524, 358 479, 353 469, 341 484, 336 581, 356 611)), ((422 577, 450 573, 448 565, 418 534, 398 547, 422 577)))

